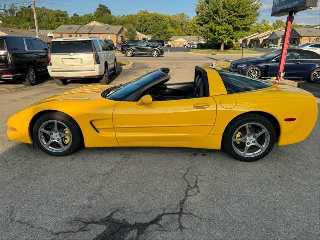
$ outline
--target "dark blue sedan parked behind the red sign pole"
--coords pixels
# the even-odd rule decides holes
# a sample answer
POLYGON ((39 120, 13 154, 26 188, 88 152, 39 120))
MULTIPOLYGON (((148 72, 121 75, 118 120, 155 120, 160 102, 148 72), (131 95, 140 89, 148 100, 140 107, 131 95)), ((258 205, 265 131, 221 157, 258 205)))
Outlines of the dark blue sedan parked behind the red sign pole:
MULTIPOLYGON (((277 75, 281 50, 265 53, 259 57, 232 61, 230 71, 254 79, 270 78, 277 75)), ((309 80, 320 83, 320 55, 299 48, 290 48, 284 66, 285 79, 309 80)))

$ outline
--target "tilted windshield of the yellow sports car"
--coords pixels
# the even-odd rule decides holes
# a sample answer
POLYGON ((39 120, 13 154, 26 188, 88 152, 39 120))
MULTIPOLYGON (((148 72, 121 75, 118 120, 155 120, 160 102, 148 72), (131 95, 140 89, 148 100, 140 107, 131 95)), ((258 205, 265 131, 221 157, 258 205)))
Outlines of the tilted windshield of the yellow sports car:
POLYGON ((114 86, 102 93, 102 97, 114 100, 114 101, 122 101, 125 100, 127 97, 131 96, 137 90, 144 88, 145 86, 149 85, 156 79, 165 76, 165 73, 161 71, 152 71, 144 76, 141 76, 133 81, 125 83, 123 85, 114 86))

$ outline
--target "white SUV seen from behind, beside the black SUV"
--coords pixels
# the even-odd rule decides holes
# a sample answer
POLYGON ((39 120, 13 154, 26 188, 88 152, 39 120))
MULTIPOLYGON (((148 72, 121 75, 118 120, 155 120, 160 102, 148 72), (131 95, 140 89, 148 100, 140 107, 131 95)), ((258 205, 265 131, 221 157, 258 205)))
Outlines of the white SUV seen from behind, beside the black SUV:
POLYGON ((117 64, 108 44, 98 37, 56 38, 48 53, 48 71, 58 85, 78 78, 99 78, 101 84, 109 84, 117 64))

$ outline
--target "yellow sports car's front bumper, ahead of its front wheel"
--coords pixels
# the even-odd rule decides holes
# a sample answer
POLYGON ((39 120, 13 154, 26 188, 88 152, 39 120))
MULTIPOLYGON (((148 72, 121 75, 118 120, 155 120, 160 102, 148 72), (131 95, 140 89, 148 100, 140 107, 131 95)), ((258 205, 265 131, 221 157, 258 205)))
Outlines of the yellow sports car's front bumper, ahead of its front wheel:
POLYGON ((29 144, 33 143, 32 137, 29 132, 29 123, 29 121, 21 121, 18 114, 14 114, 13 116, 11 116, 6 122, 6 125, 8 127, 14 128, 15 130, 8 129, 6 131, 9 139, 29 144))

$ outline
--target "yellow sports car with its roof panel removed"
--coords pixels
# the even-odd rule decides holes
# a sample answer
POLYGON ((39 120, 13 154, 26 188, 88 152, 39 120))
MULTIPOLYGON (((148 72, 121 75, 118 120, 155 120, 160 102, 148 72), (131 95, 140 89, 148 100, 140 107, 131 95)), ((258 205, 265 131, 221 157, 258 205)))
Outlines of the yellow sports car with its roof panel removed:
POLYGON ((303 141, 317 120, 302 89, 195 68, 194 81, 170 84, 160 68, 123 85, 89 85, 39 101, 9 118, 11 140, 65 156, 86 147, 221 149, 242 161, 303 141))

